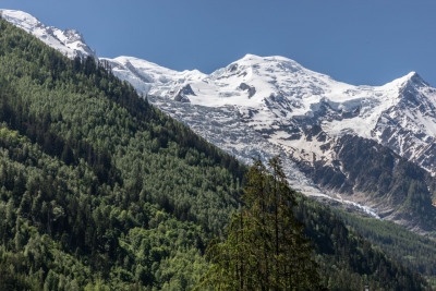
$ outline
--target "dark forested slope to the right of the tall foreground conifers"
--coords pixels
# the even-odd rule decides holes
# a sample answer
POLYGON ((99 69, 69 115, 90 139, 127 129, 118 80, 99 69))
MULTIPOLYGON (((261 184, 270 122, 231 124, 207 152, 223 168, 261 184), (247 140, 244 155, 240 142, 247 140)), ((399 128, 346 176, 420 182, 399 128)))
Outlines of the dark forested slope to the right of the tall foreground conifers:
POLYGON ((389 259, 326 206, 296 196, 295 216, 316 246, 316 260, 329 290, 426 290, 416 272, 389 259))

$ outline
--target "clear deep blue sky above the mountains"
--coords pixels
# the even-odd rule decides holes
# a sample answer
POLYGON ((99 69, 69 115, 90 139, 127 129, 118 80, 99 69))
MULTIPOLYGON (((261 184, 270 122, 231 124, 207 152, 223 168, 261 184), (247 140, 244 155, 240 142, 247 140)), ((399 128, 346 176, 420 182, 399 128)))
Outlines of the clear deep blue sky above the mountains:
POLYGON ((1 0, 80 31, 98 57, 210 73, 283 56, 354 85, 416 71, 436 86, 436 0, 1 0))

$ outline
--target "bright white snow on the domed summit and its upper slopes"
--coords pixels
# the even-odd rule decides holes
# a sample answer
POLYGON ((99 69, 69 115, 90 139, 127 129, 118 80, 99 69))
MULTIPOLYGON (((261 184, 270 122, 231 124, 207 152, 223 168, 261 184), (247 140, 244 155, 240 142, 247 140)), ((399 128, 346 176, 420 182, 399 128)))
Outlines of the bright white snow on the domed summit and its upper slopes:
POLYGON ((371 87, 334 81, 277 56, 246 54, 209 75, 198 71, 178 72, 131 57, 105 60, 112 63, 116 75, 132 83, 142 94, 172 98, 189 84, 195 93, 189 96, 191 104, 211 108, 235 106, 258 130, 276 122, 288 123, 292 118, 312 117, 323 105, 343 113, 360 110, 353 118, 326 119, 322 126, 331 136, 355 133, 367 138, 373 137, 380 114, 399 102, 401 85, 415 74, 371 87), (250 96, 249 90, 241 89, 241 84, 253 87, 255 93, 250 96))

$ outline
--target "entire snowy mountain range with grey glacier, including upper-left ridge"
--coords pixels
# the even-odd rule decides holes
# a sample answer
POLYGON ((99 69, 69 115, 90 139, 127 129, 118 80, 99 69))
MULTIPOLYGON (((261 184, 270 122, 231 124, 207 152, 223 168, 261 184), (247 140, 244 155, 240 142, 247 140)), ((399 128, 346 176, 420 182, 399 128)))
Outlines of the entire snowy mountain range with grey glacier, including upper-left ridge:
MULTIPOLYGON (((1 15, 70 58, 95 57, 75 31, 45 26, 24 12, 1 10, 1 15)), ((252 157, 267 160, 280 154, 291 186, 307 195, 403 219, 392 203, 398 199, 352 195, 359 181, 343 153, 361 142, 350 136, 371 141, 362 143, 375 148, 364 150, 373 156, 385 153, 383 147, 395 151, 384 154, 392 161, 387 167, 391 172, 403 157, 436 173, 436 89, 415 72, 383 86, 354 86, 283 57, 246 54, 211 74, 178 72, 133 57, 99 61, 240 160, 250 163, 252 157), (316 179, 326 171, 340 182, 316 179)), ((431 198, 429 186, 424 194, 431 198)))

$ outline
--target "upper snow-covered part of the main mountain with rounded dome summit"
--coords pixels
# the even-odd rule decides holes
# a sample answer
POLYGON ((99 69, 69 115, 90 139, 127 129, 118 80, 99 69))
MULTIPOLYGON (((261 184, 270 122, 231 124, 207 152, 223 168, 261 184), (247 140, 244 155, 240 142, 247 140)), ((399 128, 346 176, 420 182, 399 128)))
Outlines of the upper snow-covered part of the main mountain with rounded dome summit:
MULTIPOLYGON (((129 57, 101 60, 144 95, 208 108, 232 106, 247 125, 291 151, 315 149, 301 133, 319 124, 330 137, 373 138, 436 171, 429 153, 436 134, 436 90, 415 72, 384 86, 353 86, 283 57, 246 54, 209 75, 129 57)), ((314 154, 325 156, 319 150, 314 154)))

